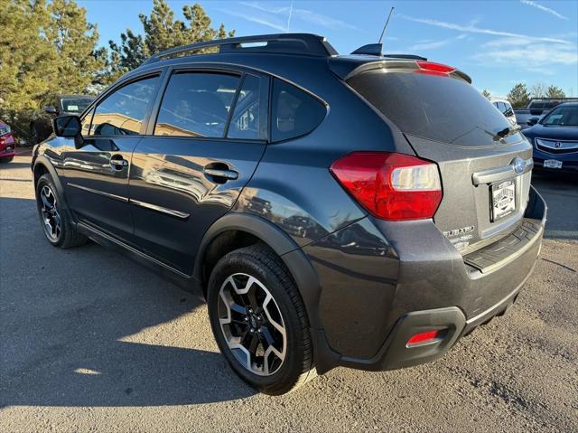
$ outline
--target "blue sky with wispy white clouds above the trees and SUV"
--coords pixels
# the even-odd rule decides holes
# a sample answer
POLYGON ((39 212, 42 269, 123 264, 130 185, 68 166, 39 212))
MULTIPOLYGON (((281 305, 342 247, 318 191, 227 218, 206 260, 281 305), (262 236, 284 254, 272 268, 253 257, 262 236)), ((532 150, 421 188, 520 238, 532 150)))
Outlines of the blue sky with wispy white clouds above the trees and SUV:
MULTIPOLYGON (((101 44, 130 28, 152 1, 79 0, 101 44)), ((182 18, 185 1, 169 1, 182 18)), ((377 42, 391 6, 384 52, 413 53, 468 73, 477 89, 504 96, 519 81, 578 95, 578 2, 564 1, 200 1, 214 26, 236 35, 291 32, 326 36, 340 53, 377 42)))

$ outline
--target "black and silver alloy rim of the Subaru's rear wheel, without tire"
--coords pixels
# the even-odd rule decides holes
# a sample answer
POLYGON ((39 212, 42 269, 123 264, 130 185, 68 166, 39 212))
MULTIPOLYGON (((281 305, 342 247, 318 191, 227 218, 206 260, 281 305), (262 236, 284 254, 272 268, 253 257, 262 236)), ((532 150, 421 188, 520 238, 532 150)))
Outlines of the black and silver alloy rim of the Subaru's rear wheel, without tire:
POLYGON ((228 348, 249 372, 270 376, 283 365, 287 336, 271 292, 255 277, 233 274, 219 292, 219 324, 228 348))

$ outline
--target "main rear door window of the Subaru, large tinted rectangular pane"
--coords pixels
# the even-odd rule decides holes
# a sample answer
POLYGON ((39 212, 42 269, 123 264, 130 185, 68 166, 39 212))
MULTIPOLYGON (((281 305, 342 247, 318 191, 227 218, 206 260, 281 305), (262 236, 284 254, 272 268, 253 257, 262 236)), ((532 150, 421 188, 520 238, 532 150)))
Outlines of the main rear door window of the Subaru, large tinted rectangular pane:
POLYGON ((180 72, 164 92, 155 136, 222 137, 239 77, 222 73, 180 72))

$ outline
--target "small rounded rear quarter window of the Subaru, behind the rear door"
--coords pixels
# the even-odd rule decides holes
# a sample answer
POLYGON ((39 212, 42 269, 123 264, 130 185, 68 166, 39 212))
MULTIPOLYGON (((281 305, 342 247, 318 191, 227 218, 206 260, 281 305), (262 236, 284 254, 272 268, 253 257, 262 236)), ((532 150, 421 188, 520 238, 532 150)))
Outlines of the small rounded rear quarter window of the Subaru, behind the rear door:
POLYGON ((271 138, 273 141, 303 136, 317 127, 325 117, 325 106, 281 80, 273 84, 271 138))

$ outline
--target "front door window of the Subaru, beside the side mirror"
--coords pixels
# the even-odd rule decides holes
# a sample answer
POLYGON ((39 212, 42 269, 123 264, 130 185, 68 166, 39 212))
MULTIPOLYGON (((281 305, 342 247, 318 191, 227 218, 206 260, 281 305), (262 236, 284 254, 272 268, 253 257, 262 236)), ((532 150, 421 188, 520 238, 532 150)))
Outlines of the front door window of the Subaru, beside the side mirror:
POLYGON ((90 135, 131 136, 139 134, 146 108, 154 98, 159 77, 135 81, 115 90, 98 104, 90 135))

